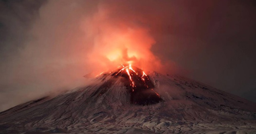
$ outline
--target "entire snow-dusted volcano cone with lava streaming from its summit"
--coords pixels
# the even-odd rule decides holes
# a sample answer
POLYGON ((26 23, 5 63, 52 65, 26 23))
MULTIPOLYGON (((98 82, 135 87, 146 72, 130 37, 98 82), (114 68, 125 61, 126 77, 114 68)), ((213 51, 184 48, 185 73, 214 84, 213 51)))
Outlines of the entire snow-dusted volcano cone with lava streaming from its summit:
POLYGON ((256 134, 256 104, 122 65, 94 83, 0 113, 1 134, 256 134))

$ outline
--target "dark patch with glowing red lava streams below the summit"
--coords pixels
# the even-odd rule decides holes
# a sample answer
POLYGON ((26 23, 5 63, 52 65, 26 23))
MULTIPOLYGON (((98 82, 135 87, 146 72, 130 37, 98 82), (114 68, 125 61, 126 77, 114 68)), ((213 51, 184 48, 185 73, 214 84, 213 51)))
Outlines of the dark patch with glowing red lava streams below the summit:
POLYGON ((142 69, 122 65, 112 76, 126 78, 122 82, 131 93, 131 103, 145 105, 162 101, 160 95, 154 91, 154 84, 142 69))

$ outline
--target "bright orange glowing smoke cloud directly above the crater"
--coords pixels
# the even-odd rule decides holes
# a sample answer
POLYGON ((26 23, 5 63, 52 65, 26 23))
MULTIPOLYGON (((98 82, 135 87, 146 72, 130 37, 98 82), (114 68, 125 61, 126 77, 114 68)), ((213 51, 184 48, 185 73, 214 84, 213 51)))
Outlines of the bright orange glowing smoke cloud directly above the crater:
POLYGON ((120 64, 147 71, 156 69, 160 60, 150 51, 155 40, 149 29, 131 21, 111 19, 114 12, 110 7, 99 6, 99 11, 81 25, 86 38, 92 39, 93 49, 86 60, 97 66, 94 73, 115 69, 120 64))

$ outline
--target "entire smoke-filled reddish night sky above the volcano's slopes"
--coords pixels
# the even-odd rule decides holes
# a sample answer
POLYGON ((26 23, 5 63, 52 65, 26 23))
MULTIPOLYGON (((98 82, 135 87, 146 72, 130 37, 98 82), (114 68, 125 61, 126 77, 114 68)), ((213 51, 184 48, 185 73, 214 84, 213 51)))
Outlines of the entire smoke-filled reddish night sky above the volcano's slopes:
POLYGON ((0 0, 0 111, 86 83, 127 32, 144 65, 256 102, 255 0, 0 0))

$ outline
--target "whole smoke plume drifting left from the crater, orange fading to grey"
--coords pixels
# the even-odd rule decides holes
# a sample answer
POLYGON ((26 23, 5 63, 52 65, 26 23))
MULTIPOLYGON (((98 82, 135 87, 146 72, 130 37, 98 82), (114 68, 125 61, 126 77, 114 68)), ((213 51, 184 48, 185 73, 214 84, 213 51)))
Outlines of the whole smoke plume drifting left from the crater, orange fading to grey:
MULTIPOLYGON (((156 41, 150 28, 143 16, 130 12, 126 3, 131 4, 84 0, 2 2, 4 7, 12 6, 4 12, 12 12, 18 6, 24 13, 18 17, 16 13, 10 14, 11 18, 20 19, 21 24, 17 26, 12 20, 11 24, 4 22, 7 30, 23 29, 14 30, 18 35, 13 41, 20 48, 6 53, 11 59, 2 64, 1 110, 84 85, 89 81, 88 76, 95 77, 120 64, 132 63, 146 71, 160 70, 161 61, 151 51, 156 41), (35 5, 38 6, 34 8, 35 5), (23 18, 26 15, 33 19, 23 18), (16 39, 20 35, 24 36, 16 39), (10 101, 10 97, 14 99, 10 101)), ((12 42, 7 41, 5 45, 12 45, 8 43, 12 42)))

